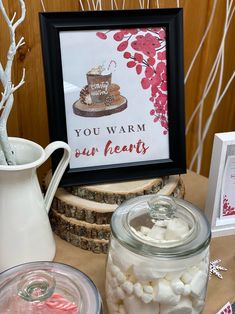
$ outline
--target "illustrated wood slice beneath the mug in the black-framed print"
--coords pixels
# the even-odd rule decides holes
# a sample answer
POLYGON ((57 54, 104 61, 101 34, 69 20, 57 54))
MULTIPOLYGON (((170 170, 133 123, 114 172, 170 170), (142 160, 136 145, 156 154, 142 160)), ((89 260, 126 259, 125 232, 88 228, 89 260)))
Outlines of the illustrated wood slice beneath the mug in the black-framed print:
POLYGON ((77 100, 73 104, 73 112, 82 117, 102 117, 108 116, 114 113, 121 112, 127 108, 127 99, 124 96, 120 96, 120 100, 112 105, 100 104, 84 104, 81 99, 77 100))

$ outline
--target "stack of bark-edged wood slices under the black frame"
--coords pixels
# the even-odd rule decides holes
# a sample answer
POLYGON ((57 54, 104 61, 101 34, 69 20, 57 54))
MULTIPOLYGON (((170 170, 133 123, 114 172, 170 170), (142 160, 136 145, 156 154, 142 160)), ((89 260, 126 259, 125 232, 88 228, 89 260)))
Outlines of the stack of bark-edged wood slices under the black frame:
MULTIPOLYGON (((46 176, 45 186, 51 173, 46 176)), ((146 194, 184 197, 180 176, 121 183, 58 188, 50 210, 53 231, 62 239, 94 253, 107 253, 110 220, 125 200, 146 194)))

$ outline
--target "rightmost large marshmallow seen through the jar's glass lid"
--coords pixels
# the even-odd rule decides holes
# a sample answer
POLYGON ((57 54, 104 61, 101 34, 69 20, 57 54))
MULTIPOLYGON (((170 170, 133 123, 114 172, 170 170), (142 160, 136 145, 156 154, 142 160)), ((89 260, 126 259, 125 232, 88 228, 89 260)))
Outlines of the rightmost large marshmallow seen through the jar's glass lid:
POLYGON ((166 228, 166 240, 183 239, 189 232, 189 226, 186 221, 181 218, 173 218, 169 220, 166 228))

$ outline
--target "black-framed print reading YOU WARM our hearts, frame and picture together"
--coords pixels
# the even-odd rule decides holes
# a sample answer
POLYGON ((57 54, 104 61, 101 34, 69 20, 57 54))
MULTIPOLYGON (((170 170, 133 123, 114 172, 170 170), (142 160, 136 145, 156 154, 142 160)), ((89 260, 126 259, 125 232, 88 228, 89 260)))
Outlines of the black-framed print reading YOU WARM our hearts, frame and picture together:
POLYGON ((50 138, 72 149, 61 184, 184 173, 182 9, 40 13, 40 25, 50 138))

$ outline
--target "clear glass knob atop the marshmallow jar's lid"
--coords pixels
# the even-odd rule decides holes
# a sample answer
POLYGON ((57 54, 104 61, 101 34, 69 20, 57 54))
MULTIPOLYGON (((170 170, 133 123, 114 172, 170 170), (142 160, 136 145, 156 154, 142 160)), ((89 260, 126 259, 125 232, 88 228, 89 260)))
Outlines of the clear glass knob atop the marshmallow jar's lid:
POLYGON ((153 220, 171 219, 176 212, 176 203, 173 198, 157 195, 148 201, 149 214, 153 220))

